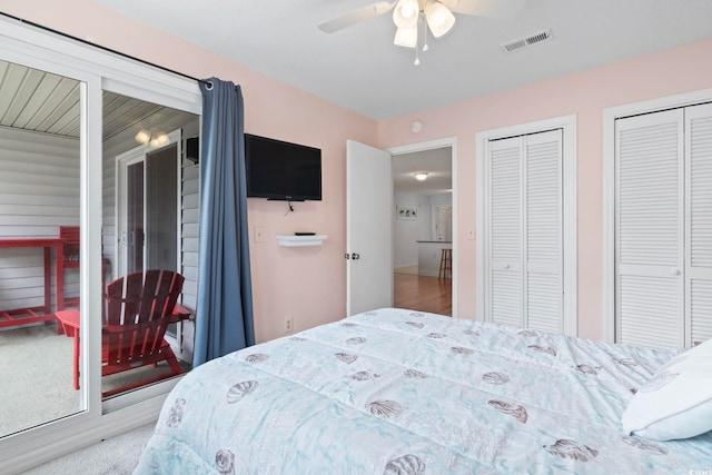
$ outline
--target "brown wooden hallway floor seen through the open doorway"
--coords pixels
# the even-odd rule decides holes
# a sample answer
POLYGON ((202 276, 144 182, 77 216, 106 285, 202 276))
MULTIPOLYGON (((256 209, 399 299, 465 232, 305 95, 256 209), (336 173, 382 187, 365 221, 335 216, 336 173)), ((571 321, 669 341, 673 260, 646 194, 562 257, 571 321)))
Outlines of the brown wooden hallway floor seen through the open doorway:
POLYGON ((398 308, 453 315, 453 279, 393 274, 393 303, 398 308))

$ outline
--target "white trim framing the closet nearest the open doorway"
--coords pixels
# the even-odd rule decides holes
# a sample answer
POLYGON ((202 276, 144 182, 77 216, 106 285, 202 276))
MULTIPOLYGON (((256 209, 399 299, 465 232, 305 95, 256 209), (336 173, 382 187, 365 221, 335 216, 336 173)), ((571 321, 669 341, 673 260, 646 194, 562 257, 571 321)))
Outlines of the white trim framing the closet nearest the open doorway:
POLYGON ((477 187, 477 315, 476 319, 487 321, 485 296, 487 291, 486 259, 486 214, 487 214, 487 178, 488 167, 485 164, 491 140, 546 130, 562 129, 563 132, 563 221, 564 221, 564 335, 578 335, 578 263, 577 263, 577 225, 576 225, 576 116, 562 116, 527 123, 503 127, 478 132, 476 135, 476 187, 477 187))

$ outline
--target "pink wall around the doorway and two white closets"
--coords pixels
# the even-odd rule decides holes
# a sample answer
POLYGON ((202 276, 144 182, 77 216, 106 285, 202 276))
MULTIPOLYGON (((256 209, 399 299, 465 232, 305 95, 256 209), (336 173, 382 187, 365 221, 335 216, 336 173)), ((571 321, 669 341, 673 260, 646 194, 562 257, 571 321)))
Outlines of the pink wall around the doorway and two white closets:
MULTIPOLYGON (((578 334, 601 338, 603 320, 603 109, 712 87, 712 40, 477 97, 378 125, 379 146, 457 137, 458 316, 474 318, 476 241, 475 135, 577 116, 578 334), (413 120, 424 122, 414 136, 413 120)), ((475 79, 474 79, 475 80, 475 79)))

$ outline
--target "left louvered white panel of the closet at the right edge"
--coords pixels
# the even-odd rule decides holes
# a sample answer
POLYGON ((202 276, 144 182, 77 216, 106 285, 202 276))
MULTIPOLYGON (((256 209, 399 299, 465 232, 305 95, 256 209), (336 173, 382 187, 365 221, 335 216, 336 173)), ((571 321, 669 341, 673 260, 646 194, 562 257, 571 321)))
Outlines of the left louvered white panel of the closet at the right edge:
POLYGON ((683 111, 616 121, 616 342, 684 344, 683 111))

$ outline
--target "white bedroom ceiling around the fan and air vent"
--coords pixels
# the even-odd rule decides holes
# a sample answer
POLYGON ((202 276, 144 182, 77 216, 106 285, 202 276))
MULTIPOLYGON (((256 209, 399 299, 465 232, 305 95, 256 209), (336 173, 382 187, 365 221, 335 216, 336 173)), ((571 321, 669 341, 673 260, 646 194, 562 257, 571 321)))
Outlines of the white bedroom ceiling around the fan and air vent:
POLYGON ((96 1, 376 120, 712 37, 712 0, 527 0, 511 20, 456 14, 416 67, 389 13, 317 28, 372 0, 96 1), (545 28, 553 41, 501 52, 545 28))

